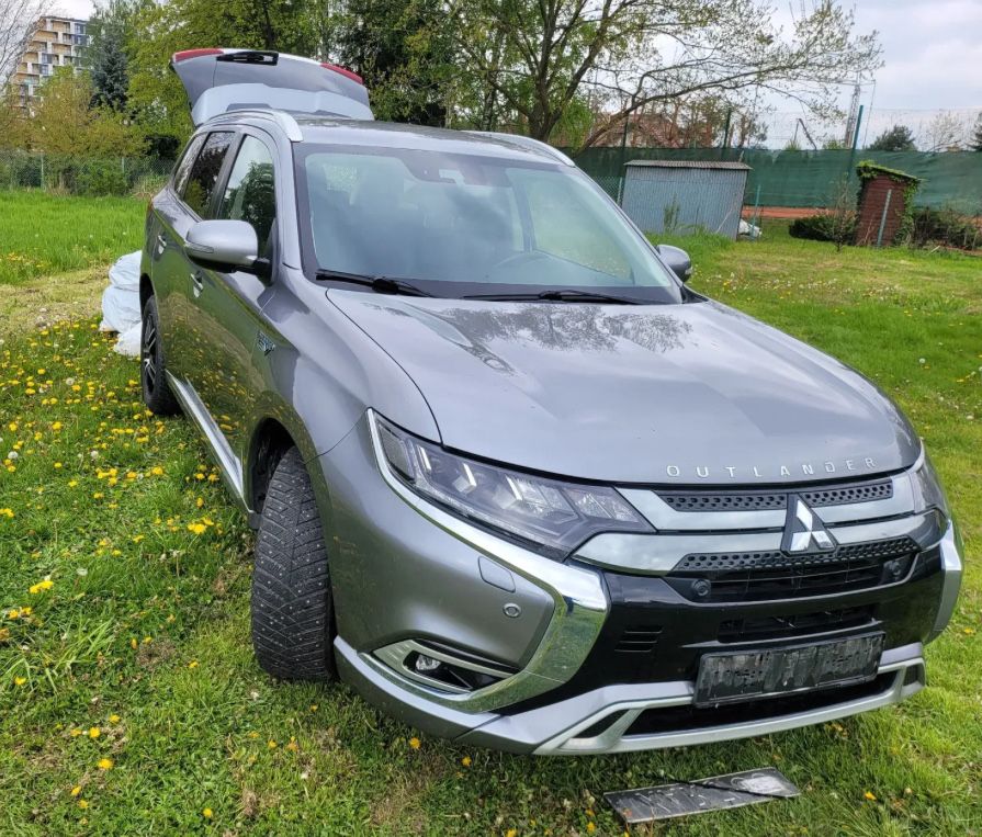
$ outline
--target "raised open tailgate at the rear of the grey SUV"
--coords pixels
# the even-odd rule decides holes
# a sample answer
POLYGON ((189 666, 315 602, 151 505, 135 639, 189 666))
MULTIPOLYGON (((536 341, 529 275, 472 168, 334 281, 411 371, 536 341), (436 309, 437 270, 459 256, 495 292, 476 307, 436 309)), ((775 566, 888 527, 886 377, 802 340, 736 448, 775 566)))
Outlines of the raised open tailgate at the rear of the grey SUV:
POLYGON ((195 127, 219 113, 279 110, 371 120, 359 76, 334 64, 260 49, 184 49, 170 59, 195 127))

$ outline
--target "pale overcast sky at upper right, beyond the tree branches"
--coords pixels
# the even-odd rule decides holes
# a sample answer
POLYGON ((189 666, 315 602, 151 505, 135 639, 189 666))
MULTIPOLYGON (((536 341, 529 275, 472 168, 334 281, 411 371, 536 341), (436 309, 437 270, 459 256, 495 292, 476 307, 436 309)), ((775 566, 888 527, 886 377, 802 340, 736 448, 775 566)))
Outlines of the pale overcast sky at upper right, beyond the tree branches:
MULTIPOLYGON (((778 22, 787 24, 801 1, 774 0, 778 22)), ((72 16, 92 13, 90 0, 57 3, 72 16)), ((877 30, 883 46, 876 88, 864 90, 867 111, 870 105, 873 112, 982 110, 982 0, 845 0, 843 5, 855 9, 857 31, 877 30)), ((850 92, 843 91, 844 106, 850 92)))

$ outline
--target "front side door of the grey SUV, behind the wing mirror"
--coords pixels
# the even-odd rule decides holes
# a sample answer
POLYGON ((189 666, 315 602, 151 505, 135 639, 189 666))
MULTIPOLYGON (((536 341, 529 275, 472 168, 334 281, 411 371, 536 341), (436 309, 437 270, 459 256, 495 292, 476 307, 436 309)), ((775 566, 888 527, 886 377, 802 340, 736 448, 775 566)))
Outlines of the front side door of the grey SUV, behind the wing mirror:
POLYGON ((195 362, 188 377, 232 450, 241 454, 247 418, 262 380, 252 363, 262 307, 275 282, 278 263, 275 145, 271 137, 245 128, 229 151, 215 194, 216 218, 245 220, 256 230, 259 257, 273 265, 260 279, 251 273, 200 269, 195 310, 195 362))

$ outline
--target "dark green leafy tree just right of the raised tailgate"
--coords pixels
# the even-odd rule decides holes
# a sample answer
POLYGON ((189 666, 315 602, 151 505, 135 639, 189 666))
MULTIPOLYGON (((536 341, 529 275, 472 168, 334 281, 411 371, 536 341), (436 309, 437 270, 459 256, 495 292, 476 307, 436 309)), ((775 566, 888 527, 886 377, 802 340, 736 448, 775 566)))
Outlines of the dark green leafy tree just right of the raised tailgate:
POLYGON ((328 33, 330 55, 364 79, 379 118, 447 123, 454 67, 440 0, 350 0, 328 33))

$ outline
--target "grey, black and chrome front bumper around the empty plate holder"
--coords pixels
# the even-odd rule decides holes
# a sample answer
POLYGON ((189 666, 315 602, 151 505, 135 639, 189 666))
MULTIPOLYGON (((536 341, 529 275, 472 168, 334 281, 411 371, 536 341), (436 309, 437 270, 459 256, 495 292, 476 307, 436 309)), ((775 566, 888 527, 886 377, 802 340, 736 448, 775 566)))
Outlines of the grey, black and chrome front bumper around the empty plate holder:
MULTIPOLYGON (((646 675, 610 679, 616 660, 605 634, 619 627, 624 602, 609 569, 558 564, 427 504, 380 473, 368 422, 323 460, 336 489, 331 574, 342 678, 387 714, 471 745, 542 755, 620 753, 765 735, 899 702, 925 685, 922 643, 947 624, 961 579, 949 525, 932 547, 930 565, 903 584, 786 603, 792 613, 868 608, 872 622, 793 642, 840 637, 874 624, 887 633, 888 647, 876 679, 725 711, 697 710, 698 659, 720 649, 721 623, 767 614, 774 602, 707 607, 667 587, 664 595, 643 590, 639 600, 661 611, 664 642, 646 675), (511 590, 485 572, 488 562, 510 574, 511 590), (503 607, 513 602, 526 609, 521 619, 503 617, 503 607), (541 613, 538 623, 533 618, 522 629, 534 612, 541 613), (382 653, 416 637, 456 643, 511 664, 513 674, 470 692, 432 688, 382 653), (595 666, 608 679, 594 679, 595 666)), ((659 578, 644 584, 665 587, 659 578)))

